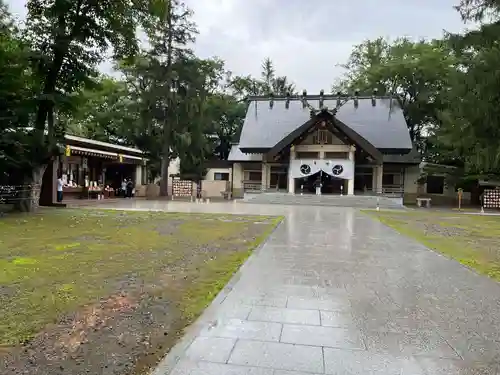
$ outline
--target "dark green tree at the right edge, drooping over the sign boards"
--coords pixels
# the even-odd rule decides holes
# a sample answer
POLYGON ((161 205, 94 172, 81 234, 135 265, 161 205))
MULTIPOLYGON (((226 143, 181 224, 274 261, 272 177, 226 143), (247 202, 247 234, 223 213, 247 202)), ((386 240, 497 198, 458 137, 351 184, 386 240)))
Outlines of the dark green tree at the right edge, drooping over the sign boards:
POLYGON ((457 7, 477 30, 449 35, 459 59, 446 92, 448 106, 436 131, 441 153, 459 161, 468 175, 500 175, 500 2, 463 0, 457 7))

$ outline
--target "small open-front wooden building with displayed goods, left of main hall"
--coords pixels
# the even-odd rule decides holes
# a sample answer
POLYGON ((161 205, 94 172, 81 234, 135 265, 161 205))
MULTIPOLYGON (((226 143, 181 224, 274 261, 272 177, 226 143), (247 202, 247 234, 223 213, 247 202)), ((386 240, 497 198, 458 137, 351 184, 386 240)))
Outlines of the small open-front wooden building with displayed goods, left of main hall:
POLYGON ((147 184, 147 159, 143 151, 107 142, 66 135, 65 153, 45 171, 40 204, 57 200, 57 178, 64 182, 63 203, 72 199, 116 196, 124 179, 132 179, 136 195, 147 184))

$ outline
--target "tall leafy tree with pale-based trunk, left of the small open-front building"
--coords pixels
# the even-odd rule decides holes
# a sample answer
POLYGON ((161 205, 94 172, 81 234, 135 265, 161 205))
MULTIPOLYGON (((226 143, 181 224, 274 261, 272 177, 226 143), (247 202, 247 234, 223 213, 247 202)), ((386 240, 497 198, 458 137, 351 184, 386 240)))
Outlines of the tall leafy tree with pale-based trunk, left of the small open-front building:
MULTIPOLYGON (((148 17, 149 1, 28 0, 27 9, 24 34, 33 52, 32 79, 38 88, 30 145, 38 155, 23 172, 25 184, 40 186, 47 164, 61 151, 58 139, 64 128, 56 111, 95 77, 110 45, 115 56, 137 51, 136 29, 148 17)), ((34 208, 37 188, 26 198, 34 204, 27 209, 34 208)))

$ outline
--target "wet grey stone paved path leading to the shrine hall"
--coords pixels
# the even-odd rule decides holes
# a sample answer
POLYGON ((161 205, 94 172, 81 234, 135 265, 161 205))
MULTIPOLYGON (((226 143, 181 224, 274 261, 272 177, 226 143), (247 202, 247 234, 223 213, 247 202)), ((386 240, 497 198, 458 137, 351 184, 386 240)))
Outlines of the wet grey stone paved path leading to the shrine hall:
POLYGON ((286 216, 155 375, 500 373, 500 285, 354 209, 120 205, 286 216))

